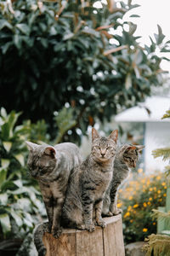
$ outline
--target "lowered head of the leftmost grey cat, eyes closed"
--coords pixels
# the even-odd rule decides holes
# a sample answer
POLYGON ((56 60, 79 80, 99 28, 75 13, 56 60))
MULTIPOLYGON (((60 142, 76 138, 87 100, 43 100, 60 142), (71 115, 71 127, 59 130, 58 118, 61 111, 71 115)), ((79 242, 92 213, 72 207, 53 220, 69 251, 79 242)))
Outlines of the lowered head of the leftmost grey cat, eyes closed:
POLYGON ((30 142, 26 142, 26 145, 29 149, 27 165, 31 177, 48 177, 54 171, 57 162, 55 148, 30 142))

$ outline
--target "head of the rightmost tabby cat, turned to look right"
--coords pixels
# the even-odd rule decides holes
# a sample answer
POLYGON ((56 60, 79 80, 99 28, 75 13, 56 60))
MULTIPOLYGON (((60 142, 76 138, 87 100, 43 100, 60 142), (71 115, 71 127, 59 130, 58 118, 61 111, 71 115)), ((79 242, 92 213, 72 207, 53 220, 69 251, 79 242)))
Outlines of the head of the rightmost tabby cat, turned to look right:
POLYGON ((125 146, 122 154, 122 158, 126 165, 129 168, 136 167, 136 163, 139 160, 139 151, 144 148, 142 145, 134 146, 134 145, 127 145, 125 146))

